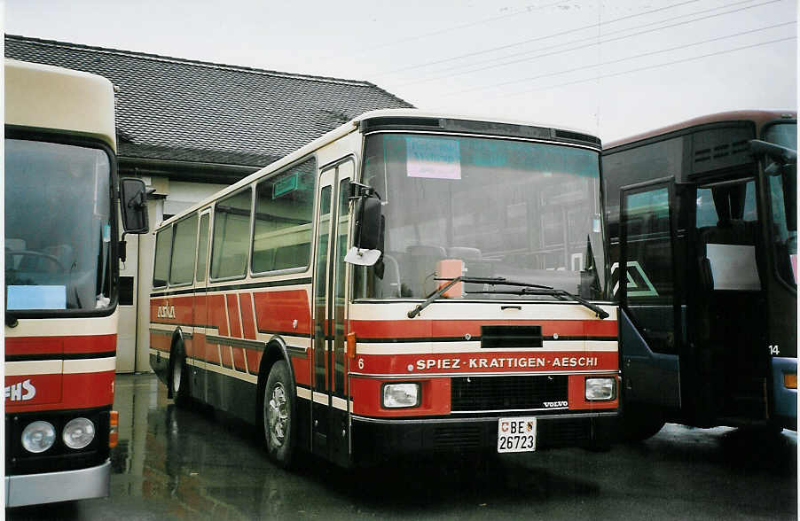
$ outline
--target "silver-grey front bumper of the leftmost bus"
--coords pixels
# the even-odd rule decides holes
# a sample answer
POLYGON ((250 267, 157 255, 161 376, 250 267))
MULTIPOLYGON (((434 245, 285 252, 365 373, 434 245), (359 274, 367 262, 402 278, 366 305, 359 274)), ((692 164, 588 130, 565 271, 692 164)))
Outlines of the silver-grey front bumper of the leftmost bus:
POLYGON ((110 460, 88 469, 6 476, 5 506, 22 507, 106 497, 110 478, 110 460))

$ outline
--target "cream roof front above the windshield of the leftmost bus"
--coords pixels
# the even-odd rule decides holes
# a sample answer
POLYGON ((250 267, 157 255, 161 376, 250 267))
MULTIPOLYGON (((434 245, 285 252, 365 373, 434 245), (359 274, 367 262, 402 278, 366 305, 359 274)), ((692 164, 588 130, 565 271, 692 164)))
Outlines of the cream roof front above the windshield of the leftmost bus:
POLYGON ((116 151, 114 86, 97 74, 6 59, 5 124, 94 137, 116 151))

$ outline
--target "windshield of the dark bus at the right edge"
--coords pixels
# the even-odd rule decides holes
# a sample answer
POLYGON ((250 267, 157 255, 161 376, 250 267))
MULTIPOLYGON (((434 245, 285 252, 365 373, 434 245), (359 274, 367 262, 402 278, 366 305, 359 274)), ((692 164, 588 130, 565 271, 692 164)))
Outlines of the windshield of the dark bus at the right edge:
MULTIPOLYGON (((797 149, 797 124, 777 123, 765 129, 765 141, 797 149)), ((783 167, 769 176, 773 213, 773 246, 778 274, 788 284, 797 285, 797 166, 783 167)))

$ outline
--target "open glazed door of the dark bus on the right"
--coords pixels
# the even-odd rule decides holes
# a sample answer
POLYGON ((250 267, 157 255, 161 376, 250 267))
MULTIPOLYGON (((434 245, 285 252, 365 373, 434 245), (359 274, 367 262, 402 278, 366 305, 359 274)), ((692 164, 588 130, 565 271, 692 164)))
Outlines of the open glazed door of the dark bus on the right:
POLYGON ((623 187, 618 295, 624 407, 679 408, 682 309, 671 178, 623 187))

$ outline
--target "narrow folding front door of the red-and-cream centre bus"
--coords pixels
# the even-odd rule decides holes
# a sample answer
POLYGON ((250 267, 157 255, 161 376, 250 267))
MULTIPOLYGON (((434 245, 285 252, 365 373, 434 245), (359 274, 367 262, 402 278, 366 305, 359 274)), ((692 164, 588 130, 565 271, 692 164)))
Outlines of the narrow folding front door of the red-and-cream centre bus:
POLYGON ((311 354, 311 444, 315 454, 349 462, 349 400, 345 377, 346 264, 349 182, 353 161, 322 172, 314 256, 314 338, 311 354), (331 240, 333 237, 333 240, 331 240))

